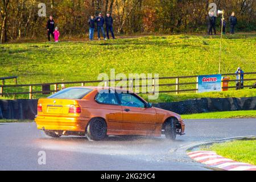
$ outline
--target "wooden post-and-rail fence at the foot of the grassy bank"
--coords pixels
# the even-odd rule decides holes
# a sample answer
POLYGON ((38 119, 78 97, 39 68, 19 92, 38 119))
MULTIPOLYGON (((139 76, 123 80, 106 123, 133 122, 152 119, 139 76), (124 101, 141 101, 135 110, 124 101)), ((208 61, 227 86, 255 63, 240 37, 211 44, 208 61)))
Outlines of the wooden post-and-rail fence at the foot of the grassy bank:
MULTIPOLYGON (((236 76, 239 75, 240 73, 236 74, 236 73, 225 73, 222 74, 222 76, 236 76)), ((245 83, 245 85, 243 85, 243 88, 253 88, 254 85, 253 84, 248 84, 246 85, 246 82, 256 82, 256 72, 249 72, 249 73, 243 73, 244 75, 244 79, 243 82, 245 83), (250 76, 250 78, 246 78, 246 75, 254 75, 254 76, 250 76), (253 77, 253 78, 251 78, 253 77)), ((197 84, 198 82, 196 81, 198 76, 177 76, 177 77, 159 77, 159 78, 152 78, 150 81, 152 81, 152 89, 148 90, 147 93, 155 93, 156 91, 156 86, 159 87, 159 91, 158 93, 176 93, 179 94, 181 92, 197 92, 197 84), (184 79, 195 79, 195 81, 191 81, 191 82, 182 82, 184 81, 184 79), (163 84, 158 84, 156 85, 156 79, 159 80, 164 80, 163 84), (181 88, 181 86, 186 86, 186 85, 190 85, 189 88, 181 88), (175 86, 175 89, 171 89, 171 87, 175 86), (195 86, 195 87, 194 87, 195 86), (162 89, 161 89, 162 88, 162 89)), ((129 79, 129 85, 132 85, 131 88, 135 89, 135 88, 144 88, 147 87, 148 85, 143 85, 142 82, 140 82, 139 85, 135 85, 134 83, 136 83, 136 80, 147 80, 148 78, 132 78, 129 79)), ((122 81, 122 80, 104 80, 105 82, 105 86, 109 86, 111 85, 110 83, 112 81, 122 81)), ((102 80, 94 80, 94 81, 69 81, 69 82, 49 82, 49 83, 43 83, 43 84, 20 84, 20 85, 0 85, 0 96, 17 96, 17 95, 24 95, 24 94, 28 94, 28 98, 32 99, 33 94, 51 94, 51 93, 55 93, 57 91, 59 91, 61 88, 59 88, 60 85, 68 85, 68 84, 72 84, 72 85, 80 85, 80 86, 92 86, 92 84, 97 84, 102 82, 102 80), (53 89, 52 86, 54 87, 53 89), (24 90, 24 87, 27 87, 27 92, 17 92, 16 90, 19 88, 19 90, 24 90), (40 87, 40 90, 38 89, 34 89, 34 88, 38 88, 40 87), (47 90, 45 90, 44 88, 48 88, 47 90)), ((227 82, 226 80, 223 80, 222 82, 227 82)), ((231 79, 229 80, 229 82, 239 82, 241 83, 241 80, 236 80, 236 79, 231 79)), ((240 84, 241 85, 241 84, 240 84)), ((237 88, 237 86, 226 86, 226 87, 222 87, 222 89, 232 89, 232 88, 237 88)))

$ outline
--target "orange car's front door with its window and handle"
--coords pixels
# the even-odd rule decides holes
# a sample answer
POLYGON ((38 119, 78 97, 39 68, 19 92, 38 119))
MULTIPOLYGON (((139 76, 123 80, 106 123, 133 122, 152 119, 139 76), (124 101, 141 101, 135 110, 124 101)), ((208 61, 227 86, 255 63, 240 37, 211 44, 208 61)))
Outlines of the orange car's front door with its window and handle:
POLYGON ((123 129, 146 134, 156 127, 156 111, 154 108, 146 108, 146 103, 136 94, 117 93, 123 112, 123 129))

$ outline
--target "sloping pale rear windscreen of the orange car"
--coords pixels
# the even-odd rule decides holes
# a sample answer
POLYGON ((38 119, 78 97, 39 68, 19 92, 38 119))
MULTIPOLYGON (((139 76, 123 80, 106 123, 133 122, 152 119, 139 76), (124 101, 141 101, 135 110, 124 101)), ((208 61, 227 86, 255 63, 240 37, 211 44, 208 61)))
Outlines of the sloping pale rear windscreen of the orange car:
POLYGON ((67 88, 49 96, 48 98, 68 98, 68 99, 82 99, 86 94, 91 92, 88 88, 67 88))

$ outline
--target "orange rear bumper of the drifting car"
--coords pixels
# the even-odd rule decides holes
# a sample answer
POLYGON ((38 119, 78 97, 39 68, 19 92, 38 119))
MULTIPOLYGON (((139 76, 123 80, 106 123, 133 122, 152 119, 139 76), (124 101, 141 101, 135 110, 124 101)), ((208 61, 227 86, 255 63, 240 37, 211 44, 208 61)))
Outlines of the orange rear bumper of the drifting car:
POLYGON ((82 117, 49 117, 38 115, 35 122, 39 130, 84 132, 89 119, 82 117))

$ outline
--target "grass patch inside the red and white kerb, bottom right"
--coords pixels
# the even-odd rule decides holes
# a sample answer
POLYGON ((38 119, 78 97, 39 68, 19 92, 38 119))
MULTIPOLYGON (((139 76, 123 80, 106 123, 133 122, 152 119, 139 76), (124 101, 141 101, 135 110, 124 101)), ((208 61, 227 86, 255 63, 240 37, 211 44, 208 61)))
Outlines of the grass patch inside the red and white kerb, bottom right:
POLYGON ((256 165, 256 140, 234 140, 232 142, 216 143, 203 150, 216 151, 225 158, 256 165))

